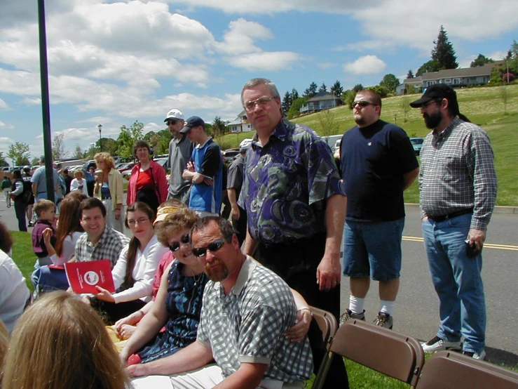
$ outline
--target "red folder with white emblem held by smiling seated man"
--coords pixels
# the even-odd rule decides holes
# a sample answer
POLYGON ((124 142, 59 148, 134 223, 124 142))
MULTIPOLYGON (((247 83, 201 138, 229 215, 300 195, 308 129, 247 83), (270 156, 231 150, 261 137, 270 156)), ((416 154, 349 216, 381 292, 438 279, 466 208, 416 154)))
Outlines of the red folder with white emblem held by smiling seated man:
POLYGON ((115 292, 114 279, 111 277, 109 259, 89 262, 67 262, 64 264, 67 279, 74 293, 93 293, 100 286, 110 293, 115 292))

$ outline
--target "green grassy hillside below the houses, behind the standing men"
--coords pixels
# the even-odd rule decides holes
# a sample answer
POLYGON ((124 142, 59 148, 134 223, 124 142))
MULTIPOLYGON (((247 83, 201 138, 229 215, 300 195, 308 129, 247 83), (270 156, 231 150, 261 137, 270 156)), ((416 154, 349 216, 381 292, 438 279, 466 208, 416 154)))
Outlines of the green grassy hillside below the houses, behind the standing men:
MULTIPOLYGON (((381 119, 392 123, 396 121, 411 137, 424 138, 429 130, 424 126, 421 111, 409 107, 409 103, 420 96, 416 94, 383 99, 381 119)), ((461 112, 473 123, 482 126, 491 138, 498 175, 497 205, 518 206, 518 85, 459 89, 457 96, 461 112), (506 105, 504 91, 507 95, 506 105)), ((355 126, 352 111, 347 107, 336 107, 331 112, 339 124, 337 134, 355 126)), ((294 121, 320 133, 318 115, 311 114, 294 121)), ((231 134, 219 141, 225 148, 237 147, 241 140, 251 136, 252 133, 231 134)), ((405 192, 405 201, 418 202, 417 183, 405 192)))

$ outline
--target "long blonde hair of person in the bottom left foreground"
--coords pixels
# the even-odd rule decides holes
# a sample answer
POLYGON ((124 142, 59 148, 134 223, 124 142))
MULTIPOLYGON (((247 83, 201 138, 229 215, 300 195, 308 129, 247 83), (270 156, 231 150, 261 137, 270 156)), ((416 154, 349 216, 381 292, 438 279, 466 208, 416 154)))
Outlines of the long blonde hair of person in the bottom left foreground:
POLYGON ((129 377, 90 307, 65 291, 39 298, 15 325, 3 389, 125 389, 129 377))

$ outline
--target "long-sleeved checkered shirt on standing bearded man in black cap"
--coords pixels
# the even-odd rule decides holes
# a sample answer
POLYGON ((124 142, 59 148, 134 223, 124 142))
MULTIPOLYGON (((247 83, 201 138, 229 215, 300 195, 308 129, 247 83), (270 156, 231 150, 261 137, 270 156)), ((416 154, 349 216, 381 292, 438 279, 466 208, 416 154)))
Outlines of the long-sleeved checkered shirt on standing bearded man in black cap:
POLYGON ((432 131, 421 150, 421 218, 473 208, 470 228, 486 230, 496 202, 496 172, 489 137, 476 124, 455 118, 432 131))

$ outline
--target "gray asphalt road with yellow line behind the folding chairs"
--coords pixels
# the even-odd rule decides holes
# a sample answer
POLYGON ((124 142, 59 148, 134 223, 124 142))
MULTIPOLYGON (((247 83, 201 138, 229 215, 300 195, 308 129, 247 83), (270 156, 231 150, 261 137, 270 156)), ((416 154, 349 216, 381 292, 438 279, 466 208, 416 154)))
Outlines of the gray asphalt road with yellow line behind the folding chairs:
MULTIPOLYGON (((435 336, 439 323, 438 299, 433 289, 423 249, 421 221, 415 207, 407 207, 403 232, 400 293, 394 311, 394 330, 421 340, 435 336)), ((0 198, 0 220, 18 230, 14 207, 0 198)), ((29 229, 29 231, 32 229, 29 229)), ((491 362, 518 365, 518 215, 493 213, 484 246, 486 292, 486 352, 491 362)), ((379 310, 377 282, 372 282, 365 304, 373 321, 379 310)), ((341 284, 342 312, 348 308, 349 282, 341 284)))

